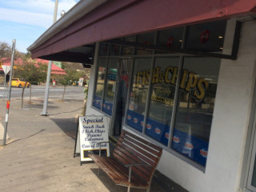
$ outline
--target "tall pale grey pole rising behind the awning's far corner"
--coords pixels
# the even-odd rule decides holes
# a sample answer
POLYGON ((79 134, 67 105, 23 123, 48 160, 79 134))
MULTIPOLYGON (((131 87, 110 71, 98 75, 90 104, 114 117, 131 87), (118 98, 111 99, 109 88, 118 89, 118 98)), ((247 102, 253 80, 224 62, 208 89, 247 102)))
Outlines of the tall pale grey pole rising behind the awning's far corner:
MULTIPOLYGON (((55 0, 54 6, 54 22, 57 20, 57 12, 58 12, 58 0, 55 0)), ((54 24, 53 22, 53 24, 54 24)), ((46 92, 45 92, 45 101, 43 102, 42 116, 48 116, 47 106, 48 106, 48 98, 49 98, 49 90, 50 90, 50 73, 51 73, 51 62, 48 62, 48 70, 47 70, 47 78, 46 78, 46 92)))

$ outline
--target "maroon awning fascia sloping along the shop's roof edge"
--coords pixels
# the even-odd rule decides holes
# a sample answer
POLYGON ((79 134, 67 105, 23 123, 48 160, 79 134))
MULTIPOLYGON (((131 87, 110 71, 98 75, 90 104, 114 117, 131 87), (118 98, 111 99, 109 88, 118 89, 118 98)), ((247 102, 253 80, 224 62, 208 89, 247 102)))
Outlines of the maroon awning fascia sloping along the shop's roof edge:
POLYGON ((46 40, 34 42, 28 50, 33 58, 46 55, 54 58, 54 54, 94 42, 246 16, 255 12, 255 0, 111 0, 74 21, 58 34, 47 34, 46 37, 42 34, 40 38, 46 40))

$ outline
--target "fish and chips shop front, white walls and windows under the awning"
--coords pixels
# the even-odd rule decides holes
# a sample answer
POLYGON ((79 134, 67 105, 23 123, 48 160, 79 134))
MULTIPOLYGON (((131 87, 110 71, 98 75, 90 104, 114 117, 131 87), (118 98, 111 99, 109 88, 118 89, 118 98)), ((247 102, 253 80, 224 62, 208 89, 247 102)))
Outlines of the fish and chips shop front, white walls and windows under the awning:
POLYGON ((126 129, 161 146, 157 170, 186 190, 256 191, 255 21, 230 16, 90 43, 86 115, 106 115, 110 137, 126 129))

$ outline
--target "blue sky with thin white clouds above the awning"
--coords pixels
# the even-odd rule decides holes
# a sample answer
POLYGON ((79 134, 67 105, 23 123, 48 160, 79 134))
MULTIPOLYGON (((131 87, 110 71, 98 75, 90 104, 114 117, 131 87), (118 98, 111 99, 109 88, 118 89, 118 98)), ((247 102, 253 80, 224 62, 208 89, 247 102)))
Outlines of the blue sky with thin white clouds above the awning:
MULTIPOLYGON (((58 0, 57 20, 62 10, 70 10, 79 0, 58 0)), ((55 0, 0 0, 0 42, 26 53, 54 21, 55 0)))

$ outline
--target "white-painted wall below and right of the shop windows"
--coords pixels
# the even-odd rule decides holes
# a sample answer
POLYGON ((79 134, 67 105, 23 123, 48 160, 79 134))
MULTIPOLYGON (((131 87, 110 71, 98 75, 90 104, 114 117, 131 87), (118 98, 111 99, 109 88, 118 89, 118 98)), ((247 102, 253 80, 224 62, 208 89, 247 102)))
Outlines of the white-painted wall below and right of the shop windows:
POLYGON ((158 170, 190 192, 236 192, 255 82, 256 22, 245 22, 235 61, 222 59, 206 172, 164 152, 158 170))

